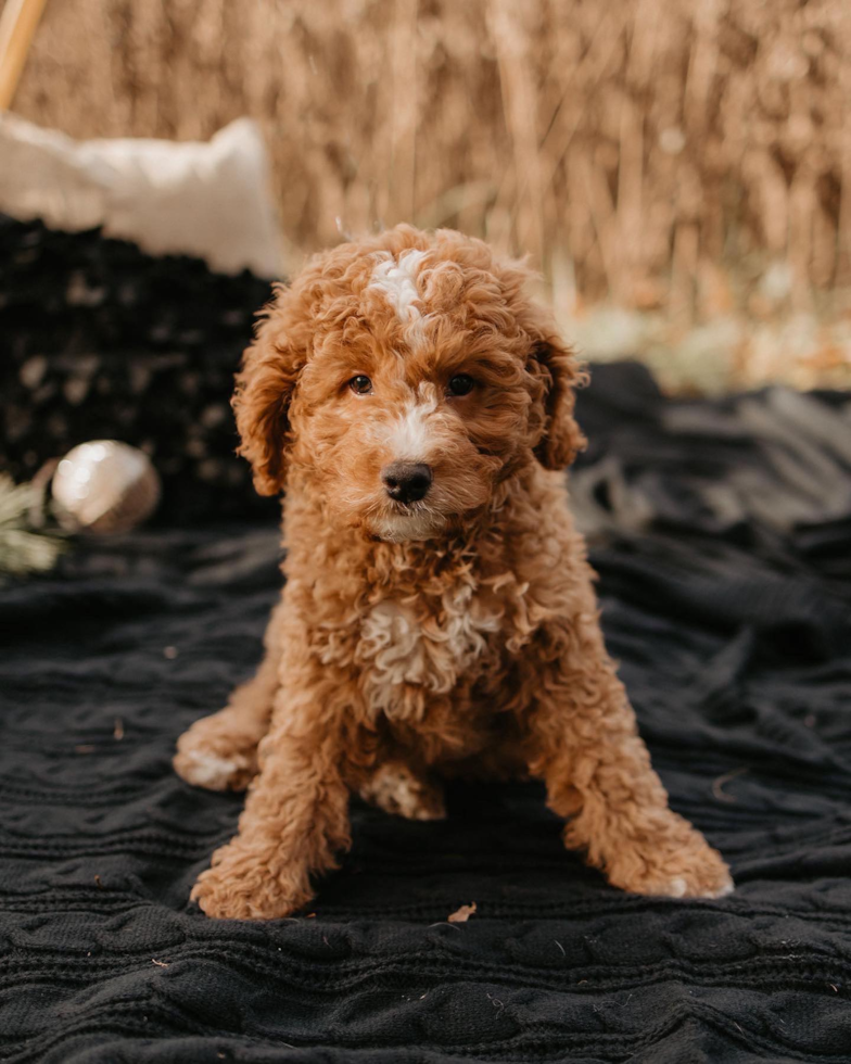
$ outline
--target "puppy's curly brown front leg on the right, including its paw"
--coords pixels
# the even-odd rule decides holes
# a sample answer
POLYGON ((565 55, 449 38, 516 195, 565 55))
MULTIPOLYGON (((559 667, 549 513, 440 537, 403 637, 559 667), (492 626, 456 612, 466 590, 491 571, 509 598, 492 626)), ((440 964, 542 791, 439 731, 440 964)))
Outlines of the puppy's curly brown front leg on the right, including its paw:
POLYGON ((576 616, 532 717, 532 771, 564 841, 624 890, 717 898, 733 889, 726 864, 668 808, 635 714, 606 653, 595 613, 576 616))

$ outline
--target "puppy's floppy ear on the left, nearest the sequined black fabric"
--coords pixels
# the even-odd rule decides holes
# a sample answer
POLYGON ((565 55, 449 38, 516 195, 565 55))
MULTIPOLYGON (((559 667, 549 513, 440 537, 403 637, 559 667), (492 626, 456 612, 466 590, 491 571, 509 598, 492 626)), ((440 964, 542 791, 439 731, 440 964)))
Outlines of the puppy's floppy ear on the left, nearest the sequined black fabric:
POLYGON ((238 454, 247 458, 254 471, 254 486, 261 495, 277 495, 285 479, 288 409, 295 381, 307 360, 303 345, 296 344, 288 329, 288 302, 283 289, 257 327, 254 343, 242 356, 231 406, 241 438, 238 454))

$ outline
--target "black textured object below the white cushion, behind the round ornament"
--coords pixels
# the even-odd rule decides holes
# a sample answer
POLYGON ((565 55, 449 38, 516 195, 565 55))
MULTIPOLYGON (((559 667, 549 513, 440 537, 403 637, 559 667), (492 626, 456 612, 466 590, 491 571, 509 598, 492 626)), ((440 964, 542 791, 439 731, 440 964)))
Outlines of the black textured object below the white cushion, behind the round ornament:
POLYGON ((268 281, 3 215, 0 264, 0 468, 28 479, 111 438, 153 459, 158 521, 277 511, 234 455, 228 404, 268 281))

